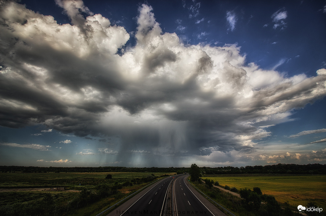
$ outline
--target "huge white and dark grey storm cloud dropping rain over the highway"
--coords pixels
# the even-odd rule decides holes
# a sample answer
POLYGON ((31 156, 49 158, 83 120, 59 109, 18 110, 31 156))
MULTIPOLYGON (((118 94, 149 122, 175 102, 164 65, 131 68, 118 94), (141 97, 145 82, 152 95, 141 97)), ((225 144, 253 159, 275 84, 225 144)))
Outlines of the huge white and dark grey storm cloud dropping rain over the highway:
POLYGON ((139 7, 137 43, 126 46, 126 29, 82 1, 56 3, 70 24, 0 3, 1 126, 114 137, 103 156, 155 164, 255 151, 268 125, 326 95, 326 69, 286 77, 248 64, 234 44, 185 45, 151 6, 139 7))

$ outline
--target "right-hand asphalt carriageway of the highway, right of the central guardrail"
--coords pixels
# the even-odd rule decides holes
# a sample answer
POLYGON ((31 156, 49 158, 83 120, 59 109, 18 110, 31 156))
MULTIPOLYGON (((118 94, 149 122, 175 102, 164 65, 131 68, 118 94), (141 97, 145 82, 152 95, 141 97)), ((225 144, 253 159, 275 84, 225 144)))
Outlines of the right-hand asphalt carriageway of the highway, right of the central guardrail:
POLYGON ((188 176, 177 177, 173 183, 172 200, 175 216, 204 215, 220 216, 226 215, 217 209, 205 197, 199 194, 188 182, 188 176))

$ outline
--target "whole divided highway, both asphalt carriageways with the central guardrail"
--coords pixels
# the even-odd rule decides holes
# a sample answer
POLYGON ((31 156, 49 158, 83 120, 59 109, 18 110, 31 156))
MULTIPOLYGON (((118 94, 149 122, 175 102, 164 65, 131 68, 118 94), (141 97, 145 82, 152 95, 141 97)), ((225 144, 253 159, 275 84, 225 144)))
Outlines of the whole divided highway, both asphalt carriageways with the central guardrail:
POLYGON ((107 216, 124 215, 203 215, 225 216, 221 210, 197 192, 188 176, 173 176, 159 180, 111 211, 107 216), (169 186, 172 191, 172 211, 165 211, 169 186))

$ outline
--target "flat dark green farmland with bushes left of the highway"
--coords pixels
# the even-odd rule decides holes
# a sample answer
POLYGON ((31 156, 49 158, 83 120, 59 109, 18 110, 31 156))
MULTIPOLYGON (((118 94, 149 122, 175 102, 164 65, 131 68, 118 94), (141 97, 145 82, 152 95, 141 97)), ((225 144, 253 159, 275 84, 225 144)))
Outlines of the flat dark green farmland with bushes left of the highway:
POLYGON ((0 173, 0 214, 96 215, 157 178, 170 174, 172 173, 0 173), (108 174, 112 175, 112 179, 106 179, 108 174), (50 188, 58 187, 65 190, 49 192, 50 188))

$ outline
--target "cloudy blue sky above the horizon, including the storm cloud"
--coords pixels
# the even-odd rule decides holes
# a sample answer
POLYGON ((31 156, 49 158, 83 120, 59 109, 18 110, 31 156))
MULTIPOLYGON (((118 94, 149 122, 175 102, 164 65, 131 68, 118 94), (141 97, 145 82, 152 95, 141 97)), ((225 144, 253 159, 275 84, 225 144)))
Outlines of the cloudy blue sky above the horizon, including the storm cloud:
POLYGON ((0 0, 0 165, 326 163, 326 1, 0 0))

